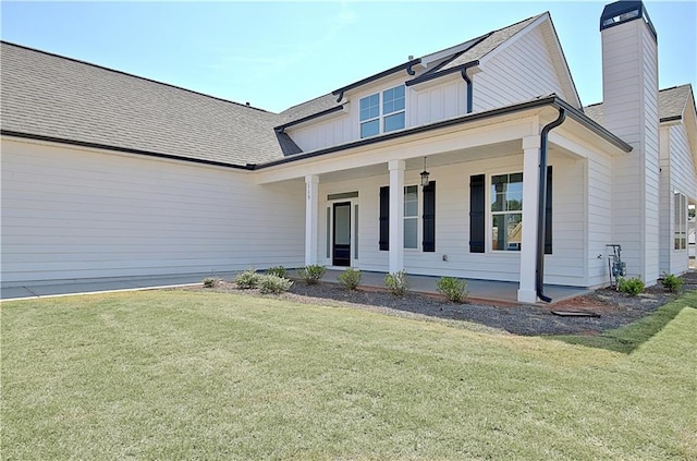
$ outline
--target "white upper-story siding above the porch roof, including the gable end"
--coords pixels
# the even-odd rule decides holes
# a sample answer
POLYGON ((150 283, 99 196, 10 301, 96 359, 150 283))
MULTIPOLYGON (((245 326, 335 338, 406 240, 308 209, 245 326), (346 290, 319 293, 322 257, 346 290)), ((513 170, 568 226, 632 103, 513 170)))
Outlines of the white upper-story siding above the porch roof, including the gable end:
MULTIPOLYGON (((351 93, 345 112, 333 113, 298 126, 286 129, 289 135, 303 149, 313 151, 345 144, 360 138, 360 98, 411 80, 401 72, 389 78, 367 84, 351 93)), ((549 52, 545 33, 533 28, 516 38, 496 57, 482 65, 482 72, 473 76, 474 111, 490 110, 555 93, 573 100, 560 82, 554 59, 549 52)), ((406 88, 406 128, 419 126, 467 113, 467 85, 453 73, 406 88)))

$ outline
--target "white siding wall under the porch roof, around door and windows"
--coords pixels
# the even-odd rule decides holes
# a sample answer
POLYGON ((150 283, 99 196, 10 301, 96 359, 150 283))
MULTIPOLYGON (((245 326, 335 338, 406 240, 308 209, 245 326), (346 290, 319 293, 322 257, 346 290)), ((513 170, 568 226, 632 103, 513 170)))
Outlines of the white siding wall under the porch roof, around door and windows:
MULTIPOLYGON (((588 250, 584 238, 585 160, 551 153, 553 167, 553 253, 546 256, 546 283, 587 287, 585 270, 588 250)), ((454 276, 467 279, 518 281, 521 256, 518 252, 469 252, 469 177, 523 171, 523 155, 511 155, 487 160, 477 160, 429 167, 430 179, 436 181, 436 251, 423 252, 421 219, 418 226, 418 250, 404 250, 404 267, 407 274, 430 276, 454 276), (443 260, 443 255, 448 260, 443 260)), ((405 185, 419 184, 420 170, 407 170, 405 185)), ((321 182, 320 221, 326 222, 328 194, 358 192, 358 259, 352 262, 362 270, 387 271, 389 252, 379 250, 379 191, 389 185, 389 175, 376 175, 350 181, 321 182)), ((487 186, 487 190, 489 186, 487 186)), ((489 199, 487 192, 487 201, 489 199)), ((418 187, 419 217, 423 215, 423 190, 418 187)), ((487 220, 490 216, 487 215, 487 220)), ((490 225, 487 228, 490 234, 490 225)), ((327 227, 320 225, 319 264, 331 265, 327 255, 327 227)), ((603 241, 604 245, 604 241, 603 241)))

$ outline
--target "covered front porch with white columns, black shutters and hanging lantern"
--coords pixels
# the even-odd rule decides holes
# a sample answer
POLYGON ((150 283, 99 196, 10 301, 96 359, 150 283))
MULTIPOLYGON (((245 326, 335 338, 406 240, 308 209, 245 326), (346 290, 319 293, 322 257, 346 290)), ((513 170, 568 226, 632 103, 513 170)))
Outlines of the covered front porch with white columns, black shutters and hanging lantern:
MULTIPOLYGON (((256 180, 305 183, 306 265, 404 270, 424 277, 416 280, 432 292, 442 276, 476 280, 473 295, 478 281, 487 281, 484 299, 496 299, 497 290, 506 293, 502 301, 537 303, 540 287, 553 299, 560 298, 554 286, 587 289, 606 281, 601 252, 610 231, 602 225, 606 238, 591 228, 610 211, 594 209, 588 220, 589 170, 597 161, 590 158, 600 153, 610 161, 622 151, 576 119, 547 143, 543 129, 561 112, 535 105, 474 114, 302 154, 265 167, 256 180), (542 153, 547 166, 540 166, 542 153), (541 201, 545 222, 540 197, 549 193, 542 183, 554 192, 553 206, 541 201)), ((610 196, 598 198, 610 203, 610 196)), ((383 276, 376 277, 382 286, 383 276)))

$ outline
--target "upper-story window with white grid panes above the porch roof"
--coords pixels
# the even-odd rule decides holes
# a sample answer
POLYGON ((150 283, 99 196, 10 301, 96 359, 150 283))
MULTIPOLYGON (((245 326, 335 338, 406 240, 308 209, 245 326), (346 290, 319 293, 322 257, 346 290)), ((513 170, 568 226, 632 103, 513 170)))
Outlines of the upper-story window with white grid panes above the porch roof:
POLYGON ((360 137, 404 128, 404 93, 400 85, 360 99, 360 137))

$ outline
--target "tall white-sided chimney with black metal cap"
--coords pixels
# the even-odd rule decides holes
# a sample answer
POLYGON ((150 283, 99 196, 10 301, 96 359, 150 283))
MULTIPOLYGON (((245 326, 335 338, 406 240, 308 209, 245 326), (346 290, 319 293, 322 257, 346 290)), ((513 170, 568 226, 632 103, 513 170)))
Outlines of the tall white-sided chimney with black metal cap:
POLYGON ((658 37, 640 1, 608 4, 600 17, 603 123, 632 145, 612 167, 612 234, 628 277, 659 277, 658 37))

